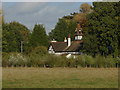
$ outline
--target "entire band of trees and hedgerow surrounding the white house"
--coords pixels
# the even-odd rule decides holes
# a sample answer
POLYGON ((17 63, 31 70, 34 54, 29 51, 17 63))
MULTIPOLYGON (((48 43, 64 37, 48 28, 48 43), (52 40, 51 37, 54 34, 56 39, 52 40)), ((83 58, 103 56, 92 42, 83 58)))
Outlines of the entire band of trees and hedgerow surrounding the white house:
POLYGON ((33 30, 29 30, 19 22, 5 23, 3 19, 3 66, 62 66, 64 63, 75 67, 76 62, 82 67, 117 66, 120 60, 119 4, 93 2, 91 6, 84 3, 79 12, 59 18, 49 35, 42 24, 35 24, 33 30), (79 56, 76 60, 72 58, 68 62, 64 57, 49 55, 47 48, 52 39, 63 41, 70 34, 74 40, 77 22, 83 28, 83 57, 79 56))

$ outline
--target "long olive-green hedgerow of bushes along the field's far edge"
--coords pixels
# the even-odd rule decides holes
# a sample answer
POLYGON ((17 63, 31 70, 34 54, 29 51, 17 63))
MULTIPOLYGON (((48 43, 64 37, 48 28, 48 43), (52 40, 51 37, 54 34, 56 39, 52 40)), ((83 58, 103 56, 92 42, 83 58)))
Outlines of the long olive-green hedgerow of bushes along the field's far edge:
POLYGON ((118 67, 120 58, 112 56, 78 55, 76 58, 66 58, 47 53, 46 48, 37 47, 29 55, 21 53, 2 53, 2 66, 28 66, 28 67, 118 67))

